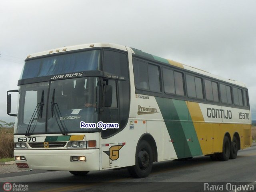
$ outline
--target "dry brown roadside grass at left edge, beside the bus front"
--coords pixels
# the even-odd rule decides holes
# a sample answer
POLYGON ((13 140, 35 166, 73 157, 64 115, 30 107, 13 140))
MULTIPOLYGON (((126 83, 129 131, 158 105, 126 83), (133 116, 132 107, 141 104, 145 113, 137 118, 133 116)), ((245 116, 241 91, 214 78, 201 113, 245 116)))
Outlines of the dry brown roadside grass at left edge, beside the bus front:
POLYGON ((0 159, 14 157, 13 131, 14 128, 0 127, 0 159))

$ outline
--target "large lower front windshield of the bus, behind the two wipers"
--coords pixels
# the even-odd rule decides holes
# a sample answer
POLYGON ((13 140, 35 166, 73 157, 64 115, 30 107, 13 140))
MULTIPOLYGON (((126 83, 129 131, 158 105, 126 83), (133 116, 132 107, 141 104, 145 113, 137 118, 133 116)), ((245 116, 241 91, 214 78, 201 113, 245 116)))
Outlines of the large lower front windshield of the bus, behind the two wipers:
POLYGON ((80 121, 97 123, 97 77, 20 86, 16 134, 98 132, 81 129, 80 121))

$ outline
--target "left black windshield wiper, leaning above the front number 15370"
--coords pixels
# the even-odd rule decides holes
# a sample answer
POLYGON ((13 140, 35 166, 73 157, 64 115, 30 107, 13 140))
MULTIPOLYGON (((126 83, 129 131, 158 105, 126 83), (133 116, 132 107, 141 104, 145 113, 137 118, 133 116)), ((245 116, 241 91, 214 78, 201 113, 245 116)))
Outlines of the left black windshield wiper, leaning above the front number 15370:
MULTIPOLYGON (((36 105, 36 108, 32 114, 32 117, 30 118, 25 136, 27 136, 27 137, 30 136, 29 132, 30 132, 31 125, 34 122, 34 120, 37 120, 37 122, 38 122, 39 117, 42 118, 43 109, 44 109, 44 90, 42 91, 41 102, 36 105), (35 118, 36 114, 37 114, 37 118, 35 118)), ((37 124, 37 122, 36 122, 36 124, 37 124)), ((36 124, 34 124, 33 128, 36 126, 36 124)))

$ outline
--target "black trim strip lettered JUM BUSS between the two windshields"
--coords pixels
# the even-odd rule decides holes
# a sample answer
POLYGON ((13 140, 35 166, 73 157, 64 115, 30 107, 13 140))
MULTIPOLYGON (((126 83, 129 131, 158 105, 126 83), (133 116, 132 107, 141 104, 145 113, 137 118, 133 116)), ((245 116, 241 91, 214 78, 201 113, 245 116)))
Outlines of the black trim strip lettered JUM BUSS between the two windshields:
POLYGON ((29 79, 20 79, 18 80, 18 86, 25 85, 25 84, 32 84, 32 83, 40 83, 40 82, 51 82, 55 80, 61 80, 61 79, 72 79, 72 78, 81 78, 81 77, 103 77, 103 71, 96 70, 96 71, 81 71, 76 73, 64 73, 64 74, 58 74, 58 75, 50 75, 50 76, 43 76, 43 77, 34 77, 29 79), (72 76, 72 77, 65 77, 67 74, 78 74, 82 73, 81 76, 72 76), (54 76, 62 76, 63 78, 57 78, 57 79, 51 79, 54 78, 54 76))

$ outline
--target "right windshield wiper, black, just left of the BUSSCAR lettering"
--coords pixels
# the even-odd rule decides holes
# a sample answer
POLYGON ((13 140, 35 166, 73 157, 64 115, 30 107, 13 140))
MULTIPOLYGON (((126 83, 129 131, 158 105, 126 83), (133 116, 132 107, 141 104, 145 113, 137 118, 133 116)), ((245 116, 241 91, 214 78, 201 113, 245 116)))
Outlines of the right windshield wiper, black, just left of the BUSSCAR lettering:
POLYGON ((68 130, 66 128, 65 123, 60 120, 60 117, 61 117, 60 108, 58 106, 58 103, 54 102, 54 97, 55 97, 55 89, 53 90, 52 102, 51 102, 52 103, 52 108, 51 108, 52 117, 55 116, 56 122, 58 124, 59 129, 60 129, 60 132, 63 135, 67 135, 68 134, 68 130), (57 116, 58 116, 58 118, 57 118, 57 116), (58 120, 60 121, 60 123, 58 122, 58 120))

